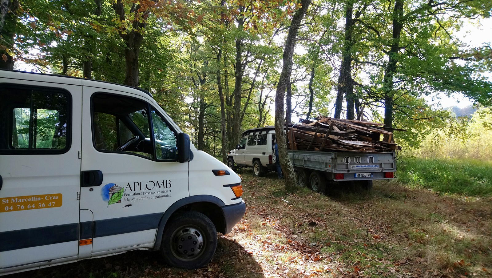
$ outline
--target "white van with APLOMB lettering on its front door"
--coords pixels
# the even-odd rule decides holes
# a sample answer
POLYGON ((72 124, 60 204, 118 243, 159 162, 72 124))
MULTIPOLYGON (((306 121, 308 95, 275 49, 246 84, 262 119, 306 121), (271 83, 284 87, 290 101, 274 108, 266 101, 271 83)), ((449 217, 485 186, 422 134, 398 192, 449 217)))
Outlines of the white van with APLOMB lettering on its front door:
POLYGON ((0 275, 134 249, 199 268, 245 213, 149 92, 0 70, 0 114, 0 275))

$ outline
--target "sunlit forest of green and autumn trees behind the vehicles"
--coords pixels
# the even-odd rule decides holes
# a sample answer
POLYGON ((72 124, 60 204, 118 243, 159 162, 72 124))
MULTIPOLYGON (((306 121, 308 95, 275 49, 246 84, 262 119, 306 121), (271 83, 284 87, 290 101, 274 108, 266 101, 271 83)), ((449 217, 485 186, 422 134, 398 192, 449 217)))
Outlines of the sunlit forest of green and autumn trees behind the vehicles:
MULTIPOLYGON (((225 161, 241 132, 272 125, 287 0, 1 0, 0 68, 138 86, 194 145, 225 161), (27 65, 27 66, 26 66, 27 65)), ((285 110, 381 122, 408 154, 490 160, 490 43, 460 30, 482 0, 313 0, 296 39, 285 110), (469 99, 457 117, 429 98, 469 99)))

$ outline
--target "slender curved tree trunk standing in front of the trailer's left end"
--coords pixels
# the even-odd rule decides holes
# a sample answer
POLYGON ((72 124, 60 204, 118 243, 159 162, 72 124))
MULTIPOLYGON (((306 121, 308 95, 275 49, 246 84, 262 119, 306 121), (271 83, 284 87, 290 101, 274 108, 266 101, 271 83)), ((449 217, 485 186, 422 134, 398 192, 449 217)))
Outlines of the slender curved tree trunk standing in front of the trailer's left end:
POLYGON ((285 189, 287 191, 294 190, 297 187, 297 182, 294 167, 292 166, 292 163, 287 155, 287 142, 283 125, 283 98, 285 96, 285 89, 290 82, 290 74, 292 73, 292 54, 294 52, 297 33, 299 32, 299 26, 301 25, 301 21, 306 14, 307 7, 310 3, 311 0, 301 0, 302 7, 298 9, 292 17, 289 33, 287 35, 287 39, 285 40, 282 72, 280 73, 280 78, 278 79, 277 92, 275 95, 275 133, 277 134, 280 167, 282 168, 283 175, 285 177, 285 189))

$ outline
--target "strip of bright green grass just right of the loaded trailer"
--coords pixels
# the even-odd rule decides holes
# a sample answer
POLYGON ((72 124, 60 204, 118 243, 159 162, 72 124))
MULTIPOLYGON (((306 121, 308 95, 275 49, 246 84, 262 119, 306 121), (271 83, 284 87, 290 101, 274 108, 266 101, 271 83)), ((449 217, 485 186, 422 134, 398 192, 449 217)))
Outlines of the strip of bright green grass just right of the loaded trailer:
POLYGON ((492 196, 492 162, 400 157, 397 178, 410 188, 465 196, 492 196))

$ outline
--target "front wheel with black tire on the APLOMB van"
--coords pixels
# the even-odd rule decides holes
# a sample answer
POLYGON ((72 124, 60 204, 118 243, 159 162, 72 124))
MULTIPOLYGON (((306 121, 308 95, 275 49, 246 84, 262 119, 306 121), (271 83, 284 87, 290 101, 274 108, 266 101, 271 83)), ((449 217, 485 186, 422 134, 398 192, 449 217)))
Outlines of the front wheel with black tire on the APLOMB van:
POLYGON ((210 262, 217 247, 217 231, 203 213, 185 211, 164 227, 160 253, 172 267, 198 269, 210 262))

